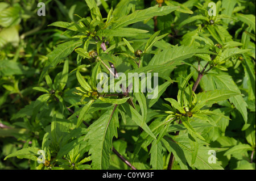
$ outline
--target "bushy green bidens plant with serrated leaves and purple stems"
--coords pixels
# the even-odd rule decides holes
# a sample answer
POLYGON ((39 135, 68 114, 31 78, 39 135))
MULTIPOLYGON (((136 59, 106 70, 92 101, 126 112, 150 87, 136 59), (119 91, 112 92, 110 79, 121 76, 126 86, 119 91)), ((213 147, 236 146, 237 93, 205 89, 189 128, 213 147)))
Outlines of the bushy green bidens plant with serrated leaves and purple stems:
POLYGON ((216 1, 216 16, 208 14, 212 1, 85 2, 85 18, 48 25, 62 38, 32 89, 44 94, 11 118, 31 136, 6 161, 27 158, 31 169, 255 169, 255 15, 243 14, 243 2, 216 1))

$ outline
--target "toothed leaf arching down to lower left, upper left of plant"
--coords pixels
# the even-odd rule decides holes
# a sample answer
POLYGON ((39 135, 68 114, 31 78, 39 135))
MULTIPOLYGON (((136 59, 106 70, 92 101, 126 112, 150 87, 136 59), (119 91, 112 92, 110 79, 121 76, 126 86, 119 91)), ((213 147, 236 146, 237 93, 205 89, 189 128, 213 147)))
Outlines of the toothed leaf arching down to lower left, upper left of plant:
POLYGON ((64 60, 69 54, 73 52, 76 47, 82 45, 82 40, 78 41, 67 41, 63 44, 60 44, 55 48, 51 53, 47 54, 48 61, 44 65, 43 71, 40 75, 39 82, 42 81, 44 75, 47 73, 48 69, 55 67, 59 62, 64 60))

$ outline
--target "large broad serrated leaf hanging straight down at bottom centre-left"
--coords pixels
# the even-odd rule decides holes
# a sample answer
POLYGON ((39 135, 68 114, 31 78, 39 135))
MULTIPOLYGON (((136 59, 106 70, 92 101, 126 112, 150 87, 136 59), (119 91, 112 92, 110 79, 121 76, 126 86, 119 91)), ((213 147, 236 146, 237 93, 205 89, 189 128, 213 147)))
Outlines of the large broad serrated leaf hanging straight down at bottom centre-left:
POLYGON ((113 116, 116 106, 106 111, 97 121, 90 125, 85 139, 90 145, 92 169, 108 169, 113 136, 117 137, 118 117, 113 116))

